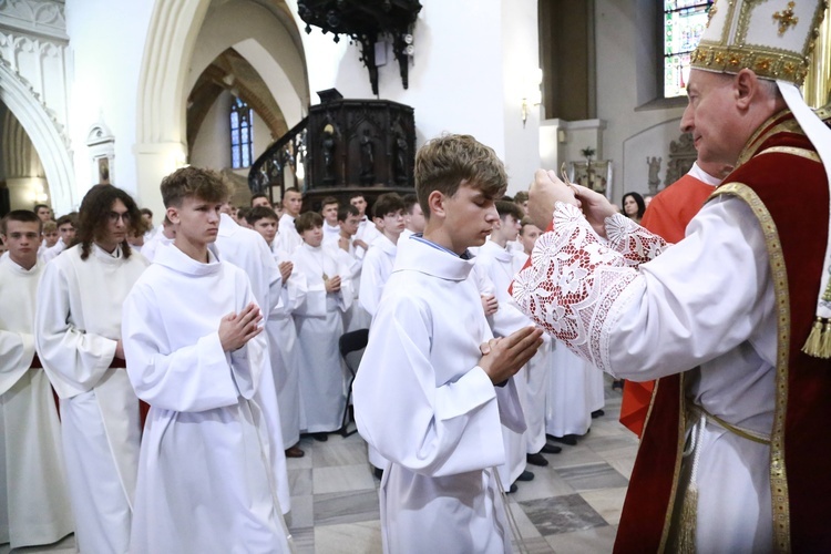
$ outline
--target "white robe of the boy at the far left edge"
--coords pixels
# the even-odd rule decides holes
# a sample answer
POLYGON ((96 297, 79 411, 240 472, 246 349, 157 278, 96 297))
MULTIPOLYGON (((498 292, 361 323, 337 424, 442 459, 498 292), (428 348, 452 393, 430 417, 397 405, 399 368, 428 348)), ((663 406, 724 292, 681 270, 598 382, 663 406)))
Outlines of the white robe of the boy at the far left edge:
POLYGON ((34 358, 34 298, 42 263, 0 260, 0 544, 50 544, 72 533, 52 387, 34 358))

